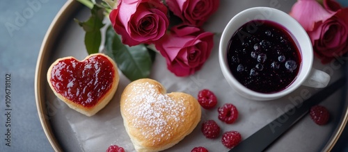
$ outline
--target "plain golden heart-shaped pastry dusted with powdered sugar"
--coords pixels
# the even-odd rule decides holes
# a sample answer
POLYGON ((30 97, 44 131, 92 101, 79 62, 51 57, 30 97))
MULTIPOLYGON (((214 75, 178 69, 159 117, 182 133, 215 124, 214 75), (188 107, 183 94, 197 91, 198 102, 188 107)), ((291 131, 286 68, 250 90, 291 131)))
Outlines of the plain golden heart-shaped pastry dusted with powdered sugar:
POLYGON ((161 83, 149 78, 129 83, 120 100, 121 115, 136 151, 163 151, 196 128, 200 104, 190 94, 166 94, 161 83))

